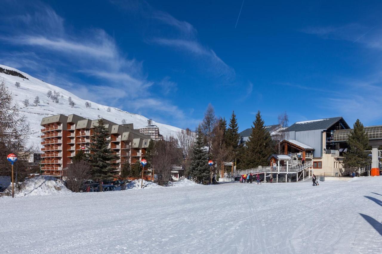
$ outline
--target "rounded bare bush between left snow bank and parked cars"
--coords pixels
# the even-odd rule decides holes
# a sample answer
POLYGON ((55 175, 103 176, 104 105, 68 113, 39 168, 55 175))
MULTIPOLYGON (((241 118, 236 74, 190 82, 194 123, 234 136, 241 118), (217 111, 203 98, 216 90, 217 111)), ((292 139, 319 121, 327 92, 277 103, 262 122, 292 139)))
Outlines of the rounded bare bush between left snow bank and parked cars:
POLYGON ((81 186, 91 177, 91 166, 84 160, 69 164, 68 169, 64 170, 66 177, 66 187, 74 192, 79 192, 81 186))

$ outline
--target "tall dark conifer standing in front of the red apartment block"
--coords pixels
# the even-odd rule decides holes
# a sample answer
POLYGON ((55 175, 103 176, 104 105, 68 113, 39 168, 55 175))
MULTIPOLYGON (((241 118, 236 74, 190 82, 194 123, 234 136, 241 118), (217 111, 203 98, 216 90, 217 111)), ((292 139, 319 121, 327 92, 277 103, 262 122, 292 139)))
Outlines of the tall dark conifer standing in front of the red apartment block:
POLYGON ((110 141, 107 138, 110 134, 104 124, 104 119, 99 119, 97 126, 94 127, 90 144, 91 153, 87 158, 92 167, 92 177, 98 181, 111 179, 115 174, 115 167, 118 166, 118 163, 113 162, 118 159, 117 155, 108 148, 110 141))

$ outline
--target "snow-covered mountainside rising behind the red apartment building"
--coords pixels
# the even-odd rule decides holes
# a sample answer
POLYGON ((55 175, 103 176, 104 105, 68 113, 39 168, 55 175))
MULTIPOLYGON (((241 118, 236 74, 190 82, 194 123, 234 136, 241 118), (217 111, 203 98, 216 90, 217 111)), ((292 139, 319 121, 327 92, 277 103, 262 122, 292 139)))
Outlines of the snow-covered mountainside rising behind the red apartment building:
MULTIPOLYGON (((21 73, 23 77, 8 75, 0 71, 0 82, 5 82, 6 87, 13 93, 13 100, 16 103, 20 111, 27 117, 28 122, 31 126, 32 135, 28 141, 29 144, 37 145, 40 148, 40 123, 42 117, 56 115, 56 114, 76 114, 78 116, 86 117, 89 119, 98 119, 98 116, 121 124, 122 120, 126 120, 126 124, 133 123, 134 129, 138 129, 147 125, 147 118, 138 114, 129 113, 118 108, 110 107, 110 112, 107 111, 108 106, 95 103, 93 101, 83 100, 78 96, 70 93, 60 87, 45 83, 42 80, 36 79, 22 71, 15 68, 4 66, 0 64, 0 68, 16 71, 21 73), (20 83, 19 88, 15 86, 16 82, 20 83), (55 103, 51 98, 47 96, 48 91, 56 91, 60 93, 58 97, 59 103, 55 103), (33 101, 36 96, 39 96, 40 103, 35 106, 33 101), (68 98, 74 101, 75 106, 71 107, 69 105, 68 98), (29 100, 29 106, 24 106, 23 101, 25 99, 29 100), (91 108, 86 108, 85 103, 91 103, 91 108)), ((13 73, 15 74, 15 73, 13 73)), ((152 121, 159 127, 160 134, 163 137, 169 135, 176 135, 178 132, 178 127, 174 127, 167 124, 160 124, 158 122, 152 121)))

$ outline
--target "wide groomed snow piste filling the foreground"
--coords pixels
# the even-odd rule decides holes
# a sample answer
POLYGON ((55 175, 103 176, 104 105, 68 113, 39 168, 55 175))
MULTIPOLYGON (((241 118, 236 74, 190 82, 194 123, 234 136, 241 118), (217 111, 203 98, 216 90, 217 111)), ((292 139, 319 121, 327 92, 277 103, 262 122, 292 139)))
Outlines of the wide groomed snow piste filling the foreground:
POLYGON ((177 185, 0 198, 0 249, 382 253, 381 177, 328 178, 319 186, 309 180, 177 185))

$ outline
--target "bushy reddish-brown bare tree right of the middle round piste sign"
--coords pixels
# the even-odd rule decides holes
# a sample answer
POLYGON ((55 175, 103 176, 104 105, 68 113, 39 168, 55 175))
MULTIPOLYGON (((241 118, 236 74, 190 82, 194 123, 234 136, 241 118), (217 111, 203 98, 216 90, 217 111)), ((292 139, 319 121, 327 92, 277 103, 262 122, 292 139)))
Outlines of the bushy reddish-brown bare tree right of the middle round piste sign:
POLYGON ((167 140, 160 140, 155 143, 152 152, 151 167, 155 170, 159 185, 163 185, 170 180, 171 166, 178 164, 181 158, 181 151, 178 148, 176 138, 169 137, 167 140))

